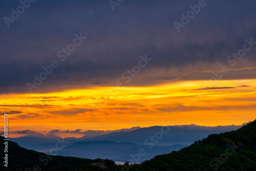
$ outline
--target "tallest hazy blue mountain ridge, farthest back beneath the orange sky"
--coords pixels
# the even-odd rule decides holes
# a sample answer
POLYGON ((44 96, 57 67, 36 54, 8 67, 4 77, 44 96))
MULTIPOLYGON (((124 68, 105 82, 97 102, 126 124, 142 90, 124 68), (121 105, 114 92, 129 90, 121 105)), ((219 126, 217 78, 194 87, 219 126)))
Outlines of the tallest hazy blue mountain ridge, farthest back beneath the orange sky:
POLYGON ((155 136, 158 132, 167 132, 158 140, 157 145, 175 145, 183 144, 190 145, 196 140, 207 137, 209 134, 218 134, 228 131, 237 130, 240 126, 197 126, 197 125, 177 125, 167 126, 169 130, 162 126, 143 127, 131 132, 119 132, 101 135, 93 138, 84 139, 83 141, 115 141, 115 142, 131 142, 136 144, 144 144, 152 142, 147 140, 150 136, 155 136), (146 141, 147 140, 147 141, 146 141))

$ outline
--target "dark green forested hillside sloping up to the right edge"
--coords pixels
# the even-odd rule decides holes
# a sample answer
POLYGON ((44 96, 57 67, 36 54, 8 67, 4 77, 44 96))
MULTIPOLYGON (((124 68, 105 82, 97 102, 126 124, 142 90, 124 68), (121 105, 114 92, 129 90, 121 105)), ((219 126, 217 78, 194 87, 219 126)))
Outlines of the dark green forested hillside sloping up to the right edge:
POLYGON ((256 120, 237 131, 211 134, 130 170, 256 170, 256 120))

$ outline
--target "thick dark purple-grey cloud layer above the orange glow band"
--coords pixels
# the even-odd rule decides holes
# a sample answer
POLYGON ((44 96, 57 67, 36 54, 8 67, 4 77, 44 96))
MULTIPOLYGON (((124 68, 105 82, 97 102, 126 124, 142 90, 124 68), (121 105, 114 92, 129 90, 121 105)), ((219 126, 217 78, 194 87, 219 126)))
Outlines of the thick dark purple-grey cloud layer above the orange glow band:
MULTIPOLYGON (((210 78, 196 74, 183 78, 182 71, 199 62, 210 63, 208 69, 216 70, 214 63, 227 65, 227 57, 243 47, 245 38, 256 41, 255 2, 207 1, 207 6, 178 33, 174 22, 181 22, 181 14, 196 4, 198 1, 188 0, 125 1, 112 11, 109 2, 103 0, 35 1, 8 28, 3 18, 10 17, 11 9, 20 3, 1 1, 0 93, 29 92, 26 83, 32 83, 33 75, 38 76, 44 71, 41 67, 49 66, 52 60, 59 67, 34 92, 115 83, 144 54, 152 61, 127 86, 154 84, 175 77, 210 78), (56 53, 67 48, 74 34, 80 33, 88 38, 61 61, 56 53), (175 76, 156 79, 162 75, 155 72, 157 69, 176 69, 172 73, 175 76), (151 72, 155 72, 155 78, 150 77, 151 72), (177 72, 181 73, 176 75, 177 72)), ((255 49, 246 53, 243 60, 248 62, 239 61, 236 67, 254 65, 255 49)), ((225 79, 244 76, 255 78, 253 72, 230 72, 225 79)))

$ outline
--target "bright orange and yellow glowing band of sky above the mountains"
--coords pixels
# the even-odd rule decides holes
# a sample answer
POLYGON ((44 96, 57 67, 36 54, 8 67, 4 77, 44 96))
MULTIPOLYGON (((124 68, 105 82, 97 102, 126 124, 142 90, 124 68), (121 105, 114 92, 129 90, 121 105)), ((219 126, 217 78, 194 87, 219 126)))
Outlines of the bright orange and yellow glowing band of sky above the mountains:
MULTIPOLYGON (((91 87, 45 94, 2 94, 12 131, 116 130, 133 126, 241 125, 255 119, 256 79, 180 81, 153 87, 91 87), (249 86, 243 86, 249 85, 249 86)), ((3 115, 1 115, 3 123, 3 115)), ((78 135, 76 135, 78 136, 78 135)), ((80 135, 81 137, 82 135, 80 135)))

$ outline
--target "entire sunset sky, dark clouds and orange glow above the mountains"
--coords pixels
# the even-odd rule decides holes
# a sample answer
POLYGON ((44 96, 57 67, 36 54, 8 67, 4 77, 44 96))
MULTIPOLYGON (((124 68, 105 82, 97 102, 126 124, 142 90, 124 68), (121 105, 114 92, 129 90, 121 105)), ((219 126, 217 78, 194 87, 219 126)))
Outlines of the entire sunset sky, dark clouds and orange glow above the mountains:
POLYGON ((7 113, 11 137, 83 136, 254 120, 255 6, 3 0, 1 124, 7 113))

